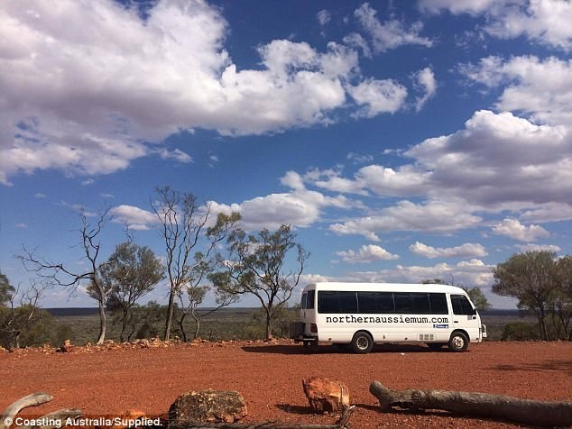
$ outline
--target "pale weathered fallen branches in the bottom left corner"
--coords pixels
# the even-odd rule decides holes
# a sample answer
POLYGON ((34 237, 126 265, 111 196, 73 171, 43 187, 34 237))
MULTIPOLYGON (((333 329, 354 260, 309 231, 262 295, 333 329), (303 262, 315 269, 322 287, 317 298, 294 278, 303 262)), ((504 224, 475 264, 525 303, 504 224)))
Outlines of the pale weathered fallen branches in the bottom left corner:
MULTIPOLYGON (((18 413, 20 413, 24 408, 27 408, 28 406, 41 406, 46 402, 50 402, 52 399, 53 397, 51 395, 43 392, 32 393, 32 395, 18 399, 14 404, 8 406, 0 417, 0 429, 10 429, 10 426, 14 424, 16 415, 18 415, 18 413)), ((63 422, 68 418, 78 418, 80 416, 81 410, 76 408, 61 408, 58 411, 33 419, 37 422, 45 422, 45 424, 34 424, 31 426, 19 425, 18 428, 29 429, 30 427, 35 427, 39 429, 54 429, 62 425, 59 424, 59 422, 63 422)))

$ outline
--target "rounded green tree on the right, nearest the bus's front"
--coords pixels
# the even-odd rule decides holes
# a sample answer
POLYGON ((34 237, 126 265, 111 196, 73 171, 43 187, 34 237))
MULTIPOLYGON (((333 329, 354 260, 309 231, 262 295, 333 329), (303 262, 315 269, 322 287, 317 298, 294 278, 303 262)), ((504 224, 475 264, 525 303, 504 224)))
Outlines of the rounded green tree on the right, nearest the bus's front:
POLYGON ((552 251, 514 254, 493 270, 493 292, 515 297, 521 309, 531 310, 539 320, 540 339, 548 340, 549 302, 558 290, 558 265, 552 251))

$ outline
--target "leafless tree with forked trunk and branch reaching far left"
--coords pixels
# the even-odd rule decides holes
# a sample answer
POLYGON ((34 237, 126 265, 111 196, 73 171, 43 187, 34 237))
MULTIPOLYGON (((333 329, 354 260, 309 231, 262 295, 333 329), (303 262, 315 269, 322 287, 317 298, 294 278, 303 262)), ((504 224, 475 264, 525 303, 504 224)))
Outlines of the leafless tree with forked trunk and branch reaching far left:
POLYGON ((109 220, 109 208, 102 211, 95 224, 88 222, 88 215, 85 210, 81 210, 79 216, 81 218, 81 249, 84 253, 83 258, 88 260, 88 267, 84 272, 76 272, 64 266, 63 262, 56 263, 50 260, 36 256, 34 251, 23 248, 23 254, 18 258, 23 261, 25 269, 35 272, 39 277, 46 281, 63 288, 69 288, 70 293, 77 290, 78 286, 84 282, 93 285, 94 297, 99 307, 99 334, 97 336, 97 344, 102 344, 106 339, 106 296, 108 289, 100 281, 97 276, 99 251, 101 243, 99 237, 101 230, 109 220))

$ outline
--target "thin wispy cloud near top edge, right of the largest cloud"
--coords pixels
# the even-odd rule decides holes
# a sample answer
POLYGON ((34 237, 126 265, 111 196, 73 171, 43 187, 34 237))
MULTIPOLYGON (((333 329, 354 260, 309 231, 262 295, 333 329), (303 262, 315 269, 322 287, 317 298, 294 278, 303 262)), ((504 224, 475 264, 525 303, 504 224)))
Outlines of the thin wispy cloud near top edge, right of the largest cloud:
POLYGON ((406 28, 404 23, 395 19, 382 23, 376 16, 377 11, 368 3, 355 9, 354 15, 367 32, 376 53, 392 50, 402 45, 425 47, 432 45, 432 41, 419 35, 423 28, 421 23, 414 23, 410 28, 406 28))

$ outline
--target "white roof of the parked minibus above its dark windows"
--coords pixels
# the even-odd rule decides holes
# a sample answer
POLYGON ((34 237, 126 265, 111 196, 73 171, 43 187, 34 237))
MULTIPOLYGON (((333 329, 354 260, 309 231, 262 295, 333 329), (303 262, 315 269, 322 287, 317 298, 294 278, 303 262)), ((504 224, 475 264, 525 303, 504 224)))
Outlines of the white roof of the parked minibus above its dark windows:
POLYGON ((346 291, 380 291, 380 292, 444 292, 466 295, 465 290, 457 286, 435 283, 353 283, 353 282, 318 282, 309 284, 306 290, 346 290, 346 291))

